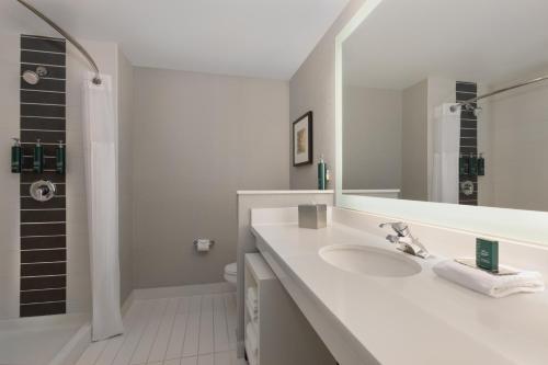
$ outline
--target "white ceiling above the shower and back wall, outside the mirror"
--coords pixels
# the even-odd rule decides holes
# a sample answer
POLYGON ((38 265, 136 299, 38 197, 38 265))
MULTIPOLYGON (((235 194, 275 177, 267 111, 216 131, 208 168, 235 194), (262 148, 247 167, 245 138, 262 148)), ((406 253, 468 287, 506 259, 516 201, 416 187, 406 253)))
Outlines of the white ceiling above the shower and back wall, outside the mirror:
MULTIPOLYGON (((27 1, 77 37, 118 43, 135 66, 287 80, 349 0, 27 1)), ((0 0, 0 31, 52 34, 41 22, 0 0)))

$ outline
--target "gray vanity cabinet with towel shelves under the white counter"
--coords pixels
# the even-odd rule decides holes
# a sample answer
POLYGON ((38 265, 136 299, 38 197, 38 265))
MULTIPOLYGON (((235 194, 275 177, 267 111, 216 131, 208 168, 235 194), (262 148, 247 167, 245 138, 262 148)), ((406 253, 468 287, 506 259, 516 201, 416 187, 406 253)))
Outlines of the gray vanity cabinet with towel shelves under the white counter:
MULTIPOLYGON (((250 365, 334 365, 335 360, 311 328, 300 309, 284 289, 260 253, 246 254, 246 329, 253 321, 248 290, 256 293, 256 363, 248 351, 250 365)), ((248 340, 248 331, 244 331, 248 340)), ((249 343, 249 341, 246 341, 249 343)))

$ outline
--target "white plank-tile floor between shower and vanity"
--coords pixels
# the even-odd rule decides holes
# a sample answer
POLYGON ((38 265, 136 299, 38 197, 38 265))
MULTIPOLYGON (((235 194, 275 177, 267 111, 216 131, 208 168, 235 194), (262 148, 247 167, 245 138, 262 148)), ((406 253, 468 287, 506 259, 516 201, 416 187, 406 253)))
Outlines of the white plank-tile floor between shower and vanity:
POLYGON ((136 300, 123 335, 92 343, 77 365, 237 365, 236 294, 136 300))

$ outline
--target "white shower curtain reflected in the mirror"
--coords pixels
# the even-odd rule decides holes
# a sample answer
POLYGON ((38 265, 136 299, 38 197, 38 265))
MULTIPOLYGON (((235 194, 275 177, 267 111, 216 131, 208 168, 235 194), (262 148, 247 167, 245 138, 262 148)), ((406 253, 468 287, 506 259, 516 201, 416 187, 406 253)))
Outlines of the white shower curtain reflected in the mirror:
POLYGON ((458 204, 458 158, 460 147, 460 109, 443 104, 434 111, 434 166, 431 201, 458 204))

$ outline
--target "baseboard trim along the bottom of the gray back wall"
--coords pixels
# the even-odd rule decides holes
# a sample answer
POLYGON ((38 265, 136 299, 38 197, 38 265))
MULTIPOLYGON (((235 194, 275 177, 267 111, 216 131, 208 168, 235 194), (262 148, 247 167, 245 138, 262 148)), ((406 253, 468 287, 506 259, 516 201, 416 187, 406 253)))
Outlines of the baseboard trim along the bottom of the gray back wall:
POLYGON ((213 284, 197 284, 197 285, 183 285, 183 286, 167 286, 167 287, 152 287, 134 289, 132 293, 132 300, 135 299, 157 299, 157 298, 174 298, 189 295, 204 295, 217 293, 236 292, 236 288, 230 283, 213 283, 213 284))

